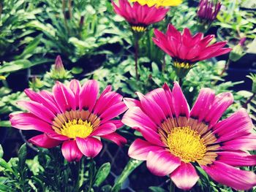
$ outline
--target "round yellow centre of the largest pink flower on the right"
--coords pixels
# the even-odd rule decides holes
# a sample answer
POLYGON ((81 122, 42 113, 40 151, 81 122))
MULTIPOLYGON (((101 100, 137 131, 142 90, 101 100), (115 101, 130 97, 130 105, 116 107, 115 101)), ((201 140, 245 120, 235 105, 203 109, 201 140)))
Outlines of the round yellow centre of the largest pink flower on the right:
POLYGON ((189 126, 173 128, 167 136, 170 153, 186 163, 200 160, 206 154, 206 145, 197 131, 189 126))

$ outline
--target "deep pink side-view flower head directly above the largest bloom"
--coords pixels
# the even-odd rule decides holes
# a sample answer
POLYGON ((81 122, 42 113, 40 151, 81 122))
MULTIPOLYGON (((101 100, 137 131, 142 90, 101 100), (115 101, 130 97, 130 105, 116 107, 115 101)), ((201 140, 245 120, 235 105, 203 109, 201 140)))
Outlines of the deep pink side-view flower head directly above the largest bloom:
POLYGON ((184 28, 181 34, 170 24, 166 34, 157 29, 154 30, 154 34, 154 43, 173 58, 173 66, 179 77, 185 76, 198 61, 223 55, 231 50, 223 48, 227 42, 209 45, 214 35, 203 37, 202 33, 197 33, 192 36, 188 28, 184 28))

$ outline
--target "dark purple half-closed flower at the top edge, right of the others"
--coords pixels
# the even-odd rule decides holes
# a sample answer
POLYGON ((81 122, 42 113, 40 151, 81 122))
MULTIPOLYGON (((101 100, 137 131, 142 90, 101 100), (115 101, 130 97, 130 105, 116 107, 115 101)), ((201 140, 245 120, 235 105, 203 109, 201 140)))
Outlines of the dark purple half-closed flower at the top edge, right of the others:
POLYGON ((212 23, 219 13, 222 4, 220 1, 200 0, 197 17, 206 23, 212 23))

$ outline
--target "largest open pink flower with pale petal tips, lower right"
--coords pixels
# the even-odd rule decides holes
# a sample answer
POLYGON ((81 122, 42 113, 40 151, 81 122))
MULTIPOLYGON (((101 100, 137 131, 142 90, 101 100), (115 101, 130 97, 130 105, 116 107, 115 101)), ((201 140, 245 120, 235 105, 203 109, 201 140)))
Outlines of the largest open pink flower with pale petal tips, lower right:
POLYGON ((129 147, 129 156, 146 161, 156 175, 170 174, 178 188, 189 190, 199 176, 199 165, 216 182, 236 190, 256 185, 253 172, 236 168, 255 166, 256 149, 252 120, 241 109, 225 120, 219 120, 233 103, 232 93, 215 95, 210 88, 200 90, 192 110, 177 82, 173 91, 165 84, 140 101, 124 99, 129 110, 122 122, 140 131, 146 139, 136 139, 129 147))

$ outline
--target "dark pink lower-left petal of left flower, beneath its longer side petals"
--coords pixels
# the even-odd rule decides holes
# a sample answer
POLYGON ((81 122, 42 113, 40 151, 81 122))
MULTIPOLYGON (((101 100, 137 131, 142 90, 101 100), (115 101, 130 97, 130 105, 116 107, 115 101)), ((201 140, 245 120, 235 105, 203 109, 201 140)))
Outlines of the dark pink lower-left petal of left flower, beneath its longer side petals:
POLYGON ((39 134, 35 137, 32 137, 31 139, 29 139, 29 142, 31 142, 34 145, 37 145, 38 147, 44 148, 52 148, 61 144, 61 141, 51 139, 50 137, 48 137, 47 134, 39 134))

